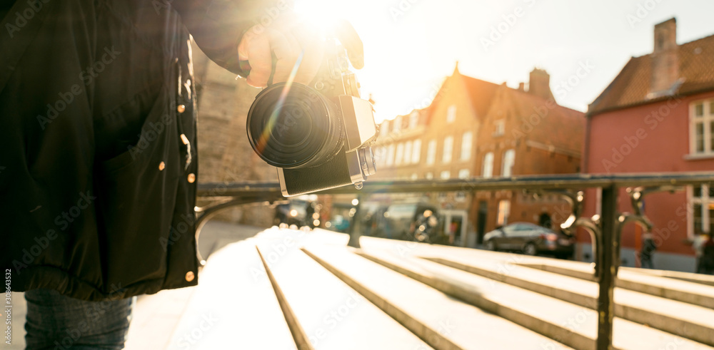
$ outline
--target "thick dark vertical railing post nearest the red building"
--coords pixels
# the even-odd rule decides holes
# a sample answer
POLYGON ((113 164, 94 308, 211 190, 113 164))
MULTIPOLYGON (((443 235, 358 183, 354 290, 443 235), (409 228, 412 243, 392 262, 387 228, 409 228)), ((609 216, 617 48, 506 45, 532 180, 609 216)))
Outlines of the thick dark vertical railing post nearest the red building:
MULTIPOLYGON (((620 242, 615 241, 616 220, 618 218, 618 187, 603 187, 602 200, 602 247, 597 247, 598 259, 603 264, 600 269, 600 294, 598 297, 598 350, 610 350, 613 347, 613 289, 617 276, 615 249, 620 249, 620 242)), ((619 254, 617 254, 619 255, 619 254)))

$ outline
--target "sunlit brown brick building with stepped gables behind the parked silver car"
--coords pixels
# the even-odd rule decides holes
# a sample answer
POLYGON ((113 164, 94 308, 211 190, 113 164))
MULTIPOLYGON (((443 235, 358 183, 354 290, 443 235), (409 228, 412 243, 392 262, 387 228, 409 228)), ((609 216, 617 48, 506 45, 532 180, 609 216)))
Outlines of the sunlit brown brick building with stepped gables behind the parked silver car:
MULTIPOLYGON (((446 78, 433 103, 381 124, 376 179, 448 179, 578 173, 585 119, 555 103, 550 76, 531 72, 528 90, 464 76, 446 78)), ((383 202, 410 200, 373 197, 383 202)), ((412 195, 441 207, 445 230, 474 247, 485 232, 509 222, 557 225, 569 207, 520 191, 412 195)))

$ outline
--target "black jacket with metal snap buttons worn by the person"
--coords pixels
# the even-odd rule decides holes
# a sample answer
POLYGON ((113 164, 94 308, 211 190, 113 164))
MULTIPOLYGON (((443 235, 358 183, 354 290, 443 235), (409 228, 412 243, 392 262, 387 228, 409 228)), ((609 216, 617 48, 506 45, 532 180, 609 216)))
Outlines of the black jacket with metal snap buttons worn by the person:
POLYGON ((266 7, 11 6, 0 7, 0 262, 11 290, 103 300, 195 285, 188 34, 239 73, 238 41, 266 7))

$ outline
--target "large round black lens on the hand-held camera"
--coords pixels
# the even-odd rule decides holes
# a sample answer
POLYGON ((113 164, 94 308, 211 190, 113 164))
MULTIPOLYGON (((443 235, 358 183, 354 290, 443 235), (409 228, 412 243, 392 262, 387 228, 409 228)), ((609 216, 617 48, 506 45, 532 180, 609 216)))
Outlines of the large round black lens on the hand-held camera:
POLYGON ((274 84, 248 110, 248 141, 278 168, 310 168, 334 157, 344 143, 338 108, 300 83, 274 84))

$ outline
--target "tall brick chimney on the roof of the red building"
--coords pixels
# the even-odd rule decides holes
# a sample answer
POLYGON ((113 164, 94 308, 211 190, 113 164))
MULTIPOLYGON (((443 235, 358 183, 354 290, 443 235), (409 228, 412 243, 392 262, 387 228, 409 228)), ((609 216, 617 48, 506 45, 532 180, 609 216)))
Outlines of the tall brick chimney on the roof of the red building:
POLYGON ((679 47, 677 46, 677 20, 668 19, 655 24, 655 49, 650 55, 652 78, 650 96, 658 97, 675 88, 679 81, 679 47))

